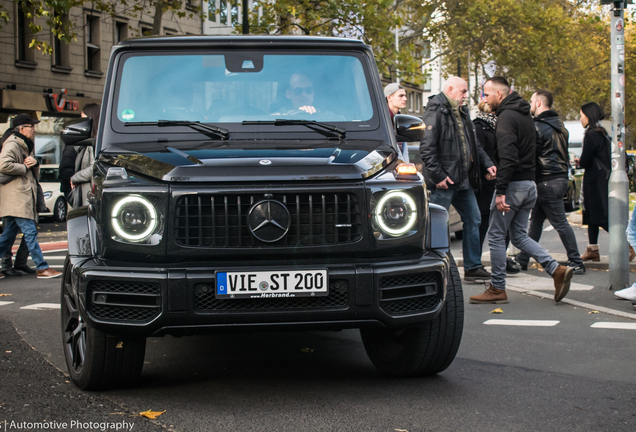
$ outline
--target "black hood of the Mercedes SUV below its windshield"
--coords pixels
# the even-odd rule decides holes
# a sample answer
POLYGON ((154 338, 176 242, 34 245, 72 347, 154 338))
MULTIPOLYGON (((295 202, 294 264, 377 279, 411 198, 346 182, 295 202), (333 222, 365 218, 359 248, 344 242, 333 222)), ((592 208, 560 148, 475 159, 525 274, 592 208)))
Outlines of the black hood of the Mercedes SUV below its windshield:
POLYGON ((396 157, 382 141, 157 142, 110 146, 107 165, 170 182, 361 180, 396 157))

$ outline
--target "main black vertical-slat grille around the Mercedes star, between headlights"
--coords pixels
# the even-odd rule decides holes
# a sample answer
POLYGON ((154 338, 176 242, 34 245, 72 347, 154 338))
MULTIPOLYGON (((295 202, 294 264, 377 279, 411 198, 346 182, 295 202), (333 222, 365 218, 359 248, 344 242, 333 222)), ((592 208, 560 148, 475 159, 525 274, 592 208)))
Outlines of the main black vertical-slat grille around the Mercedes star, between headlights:
POLYGON ((359 200, 347 192, 185 195, 174 226, 176 243, 190 247, 337 245, 362 237, 359 200), (273 243, 256 239, 248 226, 250 209, 263 200, 284 204, 290 215, 289 231, 273 243))

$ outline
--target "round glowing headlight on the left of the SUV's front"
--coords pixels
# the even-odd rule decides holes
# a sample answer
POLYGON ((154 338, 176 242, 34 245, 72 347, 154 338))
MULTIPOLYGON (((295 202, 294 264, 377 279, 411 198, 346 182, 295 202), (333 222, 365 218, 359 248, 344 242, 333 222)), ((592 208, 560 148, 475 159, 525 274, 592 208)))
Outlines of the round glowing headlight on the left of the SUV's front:
POLYGON ((140 241, 157 228, 157 210, 145 198, 128 196, 117 201, 111 213, 113 229, 122 238, 140 241))

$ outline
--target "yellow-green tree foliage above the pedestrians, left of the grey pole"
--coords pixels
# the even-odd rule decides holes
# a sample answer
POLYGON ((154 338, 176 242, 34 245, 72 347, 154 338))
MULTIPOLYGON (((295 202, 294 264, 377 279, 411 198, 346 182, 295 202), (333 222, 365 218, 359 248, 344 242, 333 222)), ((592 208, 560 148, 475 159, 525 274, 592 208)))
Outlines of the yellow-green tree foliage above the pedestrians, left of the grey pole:
POLYGON ((460 1, 445 11, 439 29, 453 74, 470 50, 473 73, 486 75, 492 62, 526 98, 536 89, 551 91, 555 109, 568 119, 592 100, 609 109, 609 16, 591 2, 460 1))

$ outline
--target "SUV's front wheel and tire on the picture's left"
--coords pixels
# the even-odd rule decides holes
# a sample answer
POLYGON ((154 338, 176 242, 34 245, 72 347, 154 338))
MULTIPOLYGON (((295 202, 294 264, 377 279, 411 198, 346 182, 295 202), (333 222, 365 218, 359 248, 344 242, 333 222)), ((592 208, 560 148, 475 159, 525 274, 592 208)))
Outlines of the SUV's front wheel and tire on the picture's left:
POLYGON ((82 390, 105 390, 137 383, 145 338, 113 336, 86 323, 73 295, 71 263, 66 257, 61 289, 62 342, 68 373, 82 390))

